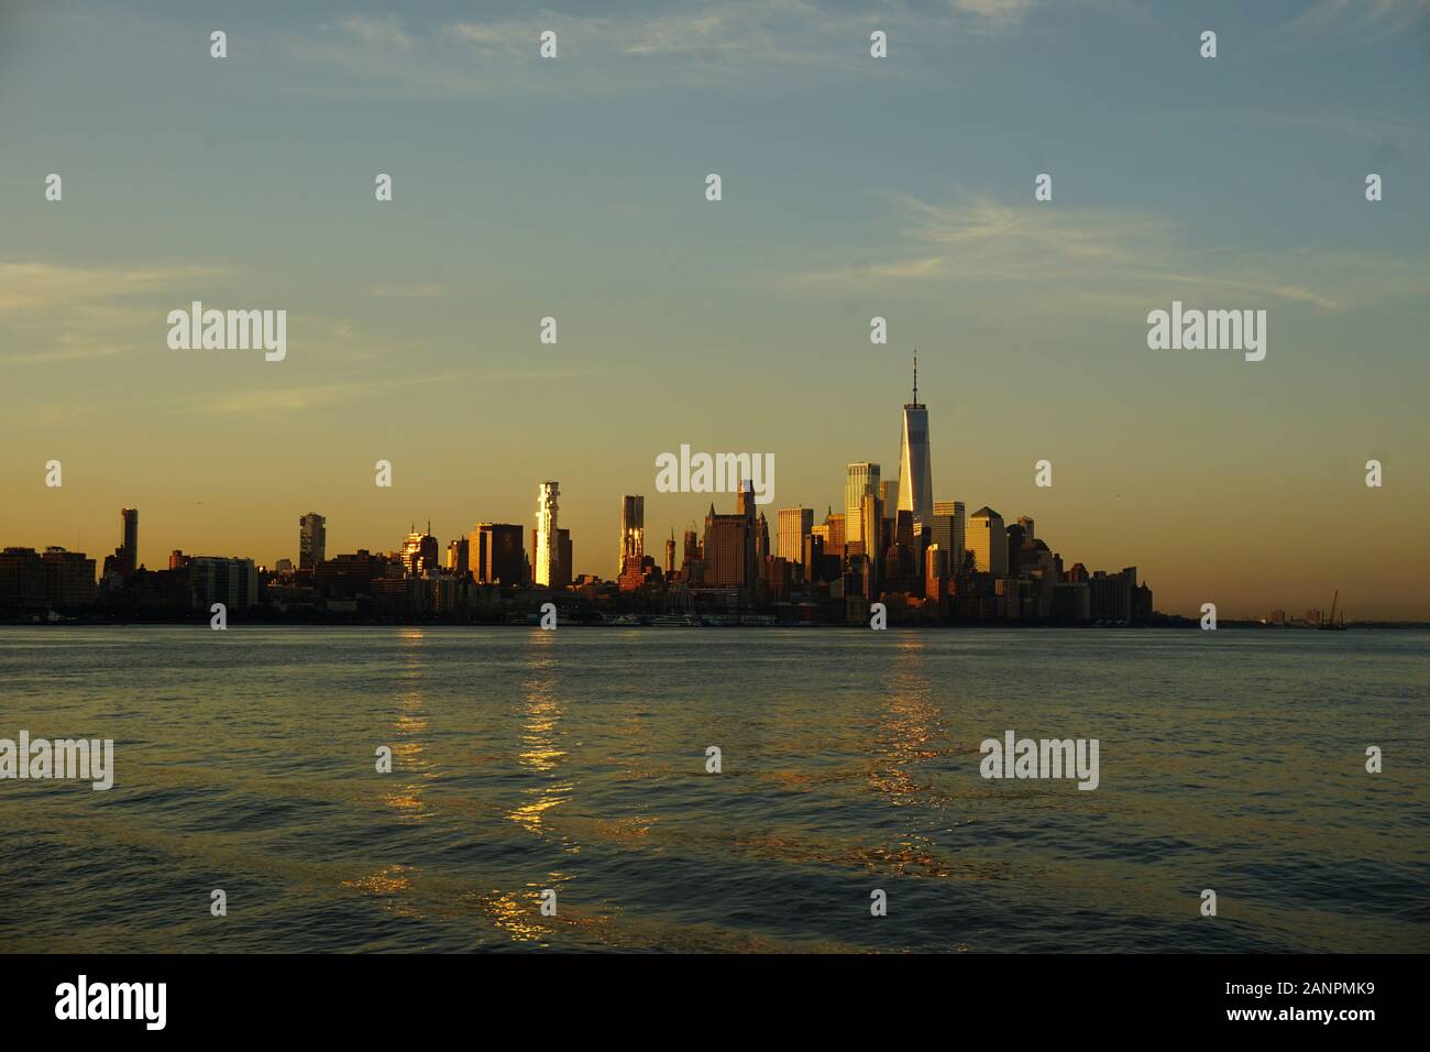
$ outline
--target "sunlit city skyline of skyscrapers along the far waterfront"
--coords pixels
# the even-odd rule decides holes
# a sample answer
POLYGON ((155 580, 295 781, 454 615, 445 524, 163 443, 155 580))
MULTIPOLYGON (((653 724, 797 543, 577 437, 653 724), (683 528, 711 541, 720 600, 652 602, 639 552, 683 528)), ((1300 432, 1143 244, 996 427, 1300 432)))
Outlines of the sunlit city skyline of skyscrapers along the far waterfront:
MULTIPOLYGON (((964 591, 964 617, 975 621, 1004 618, 1041 621, 1051 618, 1064 623, 1087 623, 1104 617, 1108 610, 1125 610, 1127 613, 1120 614, 1120 617, 1145 623, 1154 613, 1178 613, 1155 610, 1151 591, 1147 590, 1147 580, 1138 577, 1137 565, 1124 567, 1120 571, 1097 570, 1094 573, 1093 568, 1077 560, 1075 554, 1064 560, 1061 551, 1047 545, 1042 537, 1035 537, 1035 520, 1031 515, 1020 515, 1017 522, 1010 524, 988 505, 978 508, 970 517, 965 512, 964 501, 928 500, 932 490, 928 481, 930 419, 927 408, 918 402, 917 352, 914 356, 912 398, 914 401, 905 404, 902 409, 899 454, 902 471, 898 478, 881 479, 879 465, 872 462, 849 464, 845 474, 845 511, 837 514, 829 507, 825 520, 818 527, 814 524, 814 508, 804 505, 775 508, 775 518, 771 522, 755 502, 754 482, 746 479, 735 492, 735 514, 718 512, 715 502, 709 504, 704 537, 696 541, 698 551, 692 551, 689 540, 692 532, 686 532, 686 552, 679 562, 681 574, 676 577, 672 577, 675 567, 674 528, 665 550, 664 574, 661 574, 662 567, 656 560, 644 554, 645 497, 641 494, 621 497, 616 558, 619 573, 603 575, 578 571, 571 530, 561 528, 558 522, 561 484, 555 479, 538 485, 538 505, 535 525, 531 528, 529 550, 522 547, 522 525, 478 521, 469 534, 462 532, 448 544, 446 561, 443 562, 442 545, 432 531, 430 520, 428 520, 423 531, 418 531, 416 522, 410 524, 400 548, 358 547, 352 552, 337 554, 332 561, 327 561, 325 558, 327 518, 310 511, 297 520, 296 562, 286 555, 272 562, 263 562, 243 554, 204 555, 196 554, 193 550, 186 552, 182 548, 173 548, 167 560, 169 570, 186 570, 194 575, 193 603, 200 610, 214 595, 239 597, 245 590, 249 595, 247 604, 257 604, 259 571, 276 575, 292 574, 295 568, 309 574, 317 571, 317 577, 322 580, 325 574, 346 573, 343 568, 350 567, 353 561, 369 568, 378 567, 376 560, 383 558, 386 551, 386 558, 399 562, 412 578, 423 578, 429 573, 439 575, 445 573, 449 580, 455 574, 466 577, 475 584, 555 590, 571 587, 579 578, 583 583, 618 584, 621 593, 642 591, 655 583, 662 594, 672 584, 682 588, 694 585, 696 591, 738 585, 744 601, 766 608, 775 601, 788 603, 789 598, 799 600, 801 595, 807 600, 817 598, 818 593, 825 593, 824 604, 825 613, 828 613, 831 598, 842 603, 847 601, 845 597, 858 595, 868 604, 885 598, 884 593, 889 590, 891 594, 927 597, 927 601, 934 604, 932 610, 938 611, 937 615, 942 618, 948 615, 945 590, 948 597, 958 591, 950 585, 950 581, 968 573, 984 575, 982 584, 974 587, 972 591, 970 591, 968 581, 960 585, 964 591), (921 475, 925 479, 921 485, 911 487, 905 482, 909 477, 918 478, 921 475), (924 517, 919 517, 917 507, 905 507, 918 504, 927 505, 924 517), (851 535, 851 530, 854 535, 851 535), (817 548, 809 547, 811 538, 815 538, 817 548), (845 541, 849 541, 848 547, 844 547, 845 541), (1034 542, 1037 542, 1035 547, 1034 542), (781 570, 779 574, 772 575, 771 571, 776 567, 771 562, 776 557, 778 561, 797 565, 791 567, 788 573, 781 570), (872 562, 868 558, 872 558, 872 562), (888 558, 887 565, 885 558, 888 558), (864 561, 861 562, 861 560, 864 561), (779 575, 782 575, 784 583, 775 585, 774 581, 779 575), (1004 578, 1008 583, 1021 580, 1022 584, 1005 595, 1004 578), (832 580, 838 580, 838 584, 829 587, 822 584, 832 580), (814 588, 815 581, 821 583, 818 591, 814 588), (1123 598, 1107 593, 1107 585, 1114 581, 1124 581, 1117 584, 1118 590, 1130 590, 1123 594, 1123 598), (1083 591, 1080 595, 1078 593, 1062 593, 1061 597, 1054 598, 1055 588, 1070 587, 1083 588, 1083 591), (772 591, 769 591, 771 588, 772 591), (971 600, 970 595, 974 593, 984 594, 984 598, 971 600), (971 607, 970 603, 972 603, 971 607), (1005 607, 1007 613, 1004 613, 1005 607), (1104 614, 1098 614, 1100 610, 1104 614), (1138 613, 1134 614, 1134 610, 1138 613)), ((378 467, 382 468, 380 478, 390 472, 390 465, 378 467)), ((114 548, 112 555, 104 557, 102 573, 97 577, 99 591, 96 594, 113 590, 119 587, 119 583, 129 587, 136 570, 147 567, 139 542, 139 510, 122 508, 120 521, 120 545, 114 548)), ((4 545, 6 557, 19 557, 20 551, 21 547, 4 545)), ((87 558, 87 552, 66 550, 63 545, 47 544, 43 548, 34 548, 31 554, 36 562, 30 573, 37 574, 43 567, 44 574, 53 578, 46 587, 56 595, 73 597, 76 587, 82 590, 87 587, 79 584, 79 575, 84 565, 89 567, 92 578, 94 571, 100 568, 99 558, 87 558), (43 561, 39 555, 40 551, 44 552, 43 561), (64 561, 60 564, 54 560, 64 561)), ((19 595, 27 587, 24 584, 27 571, 19 565, 11 567, 9 561, 6 565, 9 567, 7 573, 16 575, 13 581, 7 578, 6 587, 9 591, 19 590, 16 591, 19 595)), ((162 587, 160 593, 170 591, 172 587, 162 587)), ((326 594, 323 590, 315 593, 315 595, 323 594, 326 594)), ((1337 598, 1338 594, 1337 588, 1337 598)), ((385 593, 378 593, 379 598, 383 595, 385 593)), ((432 610, 446 610, 453 600, 433 601, 436 605, 432 610)), ((676 605, 688 607, 689 601, 686 598, 676 605)), ((419 601, 416 610, 426 610, 426 600, 419 601)), ((463 608, 465 603, 466 600, 460 603, 463 608)), ((239 601, 239 605, 246 604, 239 601)), ((1284 605, 1273 604, 1268 611, 1268 615, 1266 611, 1257 611, 1251 618, 1230 613, 1223 614, 1223 617, 1277 624, 1296 620, 1294 614, 1290 617, 1286 614, 1284 605)), ((1321 620, 1320 605, 1308 605, 1306 611, 1307 623, 1321 620)), ((1204 613, 1204 608, 1195 611, 1195 614, 1204 613)), ((852 610, 849 615, 852 617, 852 610)), ((957 611, 955 620, 958 620, 957 611)), ((1361 620, 1377 618, 1361 617, 1361 620)))

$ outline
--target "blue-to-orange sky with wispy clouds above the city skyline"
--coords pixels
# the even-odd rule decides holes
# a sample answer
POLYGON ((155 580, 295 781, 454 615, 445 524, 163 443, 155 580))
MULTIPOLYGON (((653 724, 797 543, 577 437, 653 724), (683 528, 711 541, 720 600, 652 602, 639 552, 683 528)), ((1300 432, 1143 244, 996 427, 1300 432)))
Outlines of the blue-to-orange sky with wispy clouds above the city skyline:
POLYGON ((772 454, 772 532, 897 475, 917 346, 935 500, 1170 613, 1430 620, 1427 99, 1430 0, 0 0, 0 545, 445 547, 558 479, 611 577, 623 494, 658 558, 734 510, 682 444, 772 454), (170 349, 194 299, 286 358, 170 349), (1266 359, 1148 349, 1173 301, 1266 359))

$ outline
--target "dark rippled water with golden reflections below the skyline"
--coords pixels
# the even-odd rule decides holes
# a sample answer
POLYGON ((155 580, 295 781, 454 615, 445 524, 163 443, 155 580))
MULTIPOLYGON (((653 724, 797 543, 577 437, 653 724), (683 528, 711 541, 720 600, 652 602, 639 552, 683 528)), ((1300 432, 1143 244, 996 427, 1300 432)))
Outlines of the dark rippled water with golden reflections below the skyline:
POLYGON ((0 737, 116 740, 0 781, 0 948, 1426 952, 1427 643, 0 628, 0 737))

